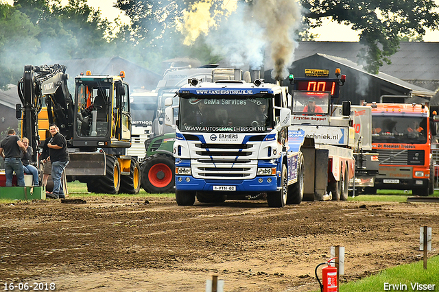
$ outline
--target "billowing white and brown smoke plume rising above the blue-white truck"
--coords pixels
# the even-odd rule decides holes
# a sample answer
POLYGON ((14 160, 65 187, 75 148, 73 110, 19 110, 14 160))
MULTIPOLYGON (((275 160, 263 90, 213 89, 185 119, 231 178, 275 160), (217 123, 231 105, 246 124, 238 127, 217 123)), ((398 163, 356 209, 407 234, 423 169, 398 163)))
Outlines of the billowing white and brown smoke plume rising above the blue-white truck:
POLYGON ((272 77, 283 80, 289 75, 288 67, 294 60, 293 31, 301 19, 296 1, 254 0, 250 5, 238 2, 236 10, 224 17, 221 23, 206 19, 206 14, 200 13, 200 7, 198 5, 196 12, 187 14, 187 23, 182 30, 189 38, 205 34, 206 44, 213 53, 224 56, 232 66, 241 68, 249 64, 252 69, 261 69, 265 51, 268 51, 271 62, 265 60, 265 63, 273 64, 272 77), (198 21, 198 17, 202 21, 198 21), (203 24, 197 27, 188 25, 189 21, 203 24))

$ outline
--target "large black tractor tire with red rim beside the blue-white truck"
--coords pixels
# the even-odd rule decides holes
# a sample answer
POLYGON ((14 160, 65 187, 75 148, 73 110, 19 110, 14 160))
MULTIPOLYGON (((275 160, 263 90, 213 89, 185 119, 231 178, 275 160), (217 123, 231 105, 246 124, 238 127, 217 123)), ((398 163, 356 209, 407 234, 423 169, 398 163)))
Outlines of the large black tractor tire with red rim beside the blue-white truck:
POLYGON ((141 165, 141 186, 147 193, 173 193, 175 185, 174 157, 154 154, 141 165))

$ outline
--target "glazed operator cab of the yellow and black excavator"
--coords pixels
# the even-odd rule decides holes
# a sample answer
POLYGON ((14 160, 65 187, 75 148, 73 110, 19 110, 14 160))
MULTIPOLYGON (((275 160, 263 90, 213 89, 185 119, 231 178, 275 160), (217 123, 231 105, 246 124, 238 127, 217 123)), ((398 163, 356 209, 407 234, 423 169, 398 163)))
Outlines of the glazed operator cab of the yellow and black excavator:
POLYGON ((75 77, 73 147, 130 147, 129 100, 128 84, 120 75, 91 75, 88 71, 75 77))

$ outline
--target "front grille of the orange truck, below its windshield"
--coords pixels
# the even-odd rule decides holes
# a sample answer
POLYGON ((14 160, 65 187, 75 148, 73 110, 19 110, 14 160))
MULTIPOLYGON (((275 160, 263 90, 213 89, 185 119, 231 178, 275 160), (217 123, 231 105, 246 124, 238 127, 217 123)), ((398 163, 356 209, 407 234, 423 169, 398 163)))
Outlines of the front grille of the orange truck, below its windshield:
POLYGON ((379 149, 380 165, 424 165, 424 150, 379 149))

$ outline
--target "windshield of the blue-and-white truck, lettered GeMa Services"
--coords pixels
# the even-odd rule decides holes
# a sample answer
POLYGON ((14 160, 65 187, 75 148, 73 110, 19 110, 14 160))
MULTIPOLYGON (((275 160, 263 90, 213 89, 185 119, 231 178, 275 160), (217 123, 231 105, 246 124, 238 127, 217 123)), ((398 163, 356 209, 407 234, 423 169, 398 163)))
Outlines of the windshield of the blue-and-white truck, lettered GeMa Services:
POLYGON ((189 132, 265 132, 273 127, 272 99, 219 96, 180 99, 180 130, 189 132))

